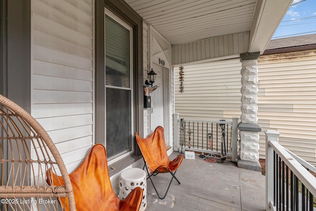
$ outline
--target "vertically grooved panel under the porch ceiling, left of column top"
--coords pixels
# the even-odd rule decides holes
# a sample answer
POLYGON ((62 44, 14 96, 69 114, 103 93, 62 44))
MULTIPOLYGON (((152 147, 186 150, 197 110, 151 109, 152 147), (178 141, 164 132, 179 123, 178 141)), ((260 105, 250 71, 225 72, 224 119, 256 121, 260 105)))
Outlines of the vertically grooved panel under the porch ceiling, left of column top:
POLYGON ((249 49, 249 32, 172 46, 172 64, 239 55, 249 49))

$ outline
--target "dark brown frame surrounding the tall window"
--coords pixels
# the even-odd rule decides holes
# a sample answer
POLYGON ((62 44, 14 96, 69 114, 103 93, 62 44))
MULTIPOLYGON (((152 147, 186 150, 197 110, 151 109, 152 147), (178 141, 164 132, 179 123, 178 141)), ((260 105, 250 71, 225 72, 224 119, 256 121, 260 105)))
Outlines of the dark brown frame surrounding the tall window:
MULTIPOLYGON (((104 8, 109 9, 133 28, 133 84, 134 130, 144 133, 143 109, 143 19, 123 0, 95 1, 95 143, 105 142, 105 49, 104 8)), ((135 141, 135 139, 133 140, 135 141)), ((127 159, 136 161, 140 151, 135 143, 135 155, 127 159), (136 160, 135 160, 136 156, 136 160)), ((117 162, 119 163, 119 162, 117 162)), ((130 163, 125 162, 125 163, 130 163)), ((115 165, 115 164, 114 164, 115 165)), ((122 167, 123 168, 123 167, 122 167)), ((117 168, 116 168, 117 169, 117 168)), ((118 168, 121 169, 121 168, 118 168)))

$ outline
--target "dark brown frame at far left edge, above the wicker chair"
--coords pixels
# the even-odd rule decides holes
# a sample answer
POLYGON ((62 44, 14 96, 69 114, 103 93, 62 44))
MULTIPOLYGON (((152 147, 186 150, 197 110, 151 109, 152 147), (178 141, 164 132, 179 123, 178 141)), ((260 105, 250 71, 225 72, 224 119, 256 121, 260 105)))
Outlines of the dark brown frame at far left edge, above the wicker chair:
POLYGON ((0 1, 0 94, 31 112, 31 0, 0 1))

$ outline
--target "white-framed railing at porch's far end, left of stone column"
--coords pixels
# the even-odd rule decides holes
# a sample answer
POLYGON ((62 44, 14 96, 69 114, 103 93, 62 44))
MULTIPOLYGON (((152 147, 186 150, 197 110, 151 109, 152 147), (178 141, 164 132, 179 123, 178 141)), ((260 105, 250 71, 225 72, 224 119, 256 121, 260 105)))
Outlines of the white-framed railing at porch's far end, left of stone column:
POLYGON ((237 162, 237 124, 237 117, 232 121, 180 120, 179 114, 174 113, 174 150, 220 155, 222 146, 225 146, 226 156, 237 162))

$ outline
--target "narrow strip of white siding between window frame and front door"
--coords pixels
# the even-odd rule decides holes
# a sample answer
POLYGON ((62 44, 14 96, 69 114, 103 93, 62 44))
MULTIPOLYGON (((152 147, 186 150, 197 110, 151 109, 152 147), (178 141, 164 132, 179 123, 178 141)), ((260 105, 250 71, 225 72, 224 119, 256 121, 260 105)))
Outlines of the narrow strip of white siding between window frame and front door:
MULTIPOLYGON (((148 79, 147 73, 149 72, 149 44, 148 44, 148 24, 143 21, 143 81, 148 79)), ((144 137, 149 135, 149 109, 144 108, 144 137)))

